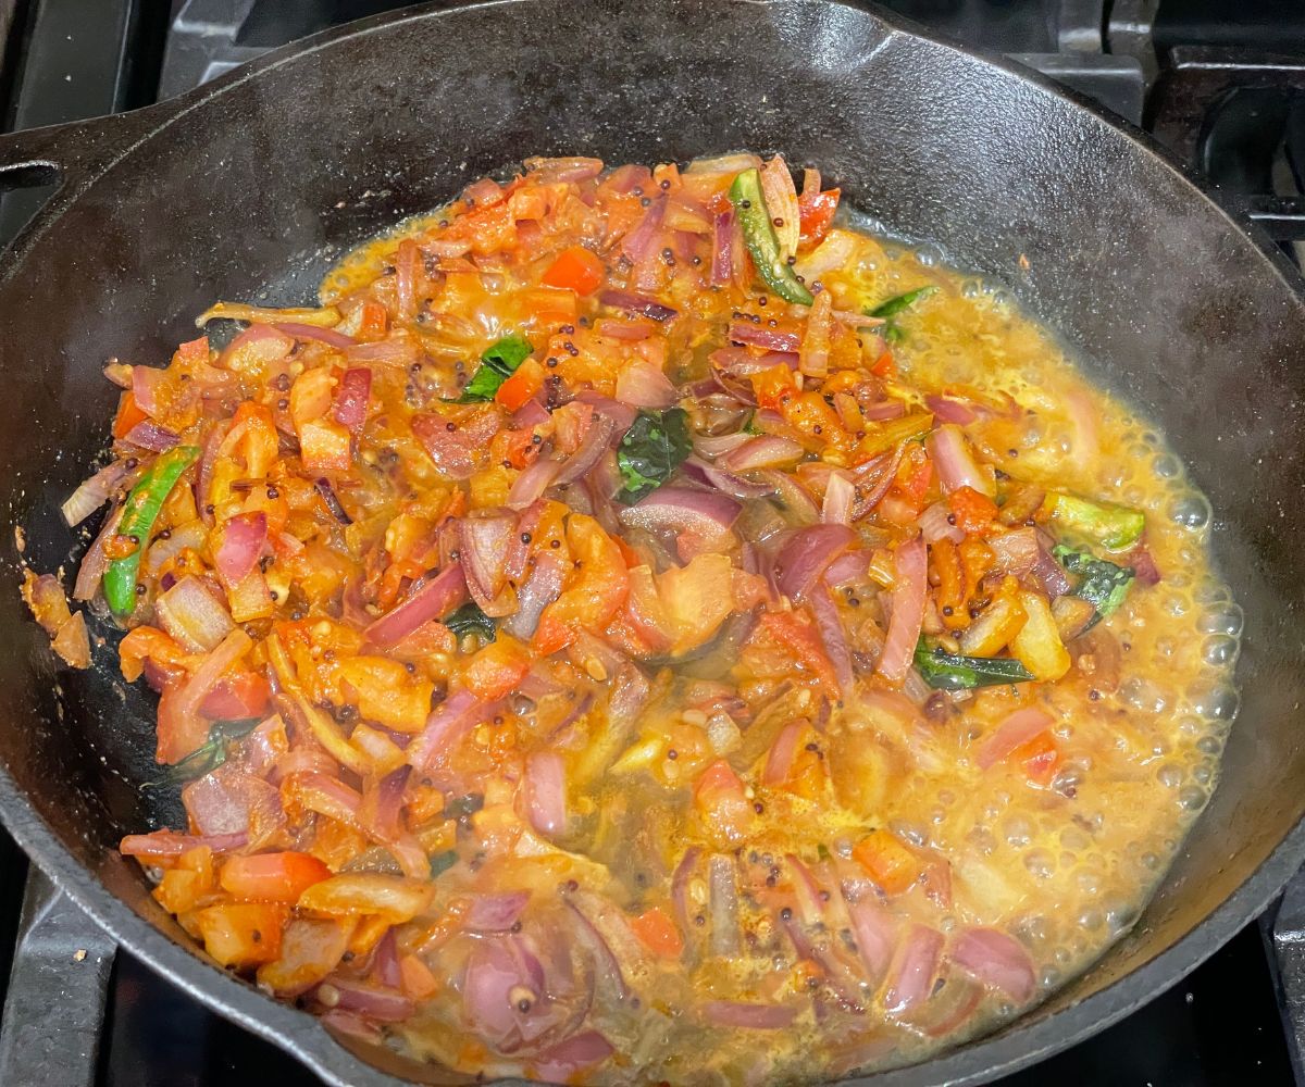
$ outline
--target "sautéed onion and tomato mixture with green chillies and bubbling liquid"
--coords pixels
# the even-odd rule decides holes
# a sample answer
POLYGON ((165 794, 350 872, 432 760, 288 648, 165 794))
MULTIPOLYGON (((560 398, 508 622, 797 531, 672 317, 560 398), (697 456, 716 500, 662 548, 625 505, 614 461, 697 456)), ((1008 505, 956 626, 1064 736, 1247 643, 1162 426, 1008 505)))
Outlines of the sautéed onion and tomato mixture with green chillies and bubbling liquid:
POLYGON ((108 367, 73 598, 189 819, 121 850, 219 964, 466 1073, 757 1084, 920 1060, 1133 923, 1236 701, 1208 505, 838 204, 530 159, 108 367))

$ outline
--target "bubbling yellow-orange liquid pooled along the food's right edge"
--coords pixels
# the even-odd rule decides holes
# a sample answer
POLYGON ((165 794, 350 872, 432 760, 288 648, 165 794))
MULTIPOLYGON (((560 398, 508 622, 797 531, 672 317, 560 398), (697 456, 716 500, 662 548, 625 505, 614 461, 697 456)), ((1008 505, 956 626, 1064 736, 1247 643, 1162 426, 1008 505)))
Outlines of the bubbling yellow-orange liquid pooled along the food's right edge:
MULTIPOLYGON (((825 278, 844 308, 934 287, 900 321, 894 355, 906 378, 1009 395, 1032 412, 1027 421, 994 423, 987 435, 977 428, 998 468, 1146 514, 1161 581, 1134 589, 1109 620, 1122 650, 1116 690, 1091 692, 1090 712, 1073 688, 1051 699, 1069 754, 1052 788, 1073 796, 1071 819, 1040 813, 1028 789, 985 791, 950 775, 912 779, 898 799, 900 809, 933 812, 928 844, 953 857, 971 895, 958 895, 958 908, 984 913, 966 920, 1007 926, 1049 993, 1137 921, 1218 784, 1238 706, 1244 621, 1210 560, 1210 502, 1155 424, 1090 381, 1000 287, 946 268, 930 251, 869 237, 851 268, 825 278), (983 890, 985 880, 993 886, 983 890)), ((967 1035, 1004 1014, 990 1009, 967 1035)))

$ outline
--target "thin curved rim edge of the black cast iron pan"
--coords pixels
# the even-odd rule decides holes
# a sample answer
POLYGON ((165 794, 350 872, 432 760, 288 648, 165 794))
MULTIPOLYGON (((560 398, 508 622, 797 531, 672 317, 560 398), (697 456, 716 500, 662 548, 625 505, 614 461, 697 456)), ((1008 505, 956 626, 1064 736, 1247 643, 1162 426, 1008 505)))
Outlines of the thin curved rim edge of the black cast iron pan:
MULTIPOLYGON (((452 4, 436 0, 436 3, 405 8, 311 35, 271 51, 176 99, 146 107, 140 111, 138 116, 142 120, 157 119, 157 124, 133 132, 128 141, 124 141, 102 166, 90 174, 77 192, 69 193, 64 200, 56 197, 47 204, 47 210, 37 215, 10 251, 14 258, 7 261, 8 268, 0 275, 0 282, 7 282, 17 274, 29 244, 54 227, 64 210, 80 197, 85 188, 115 170, 138 147, 187 117, 193 110, 207 106, 211 100, 248 81, 262 78, 264 73, 274 72, 284 64, 299 61, 346 39, 360 39, 408 21, 455 17, 474 13, 482 8, 521 7, 529 3, 531 0, 470 0, 468 3, 455 1, 452 4)), ((662 3, 675 5, 680 0, 662 0, 662 3)), ((1006 77, 1032 84, 1040 91, 1067 100, 1086 111, 1107 129, 1125 136, 1142 153, 1176 175, 1186 187, 1190 197, 1206 204, 1210 211, 1241 234, 1258 256, 1267 261, 1283 288, 1295 299, 1297 309, 1305 313, 1305 301, 1302 301, 1305 279, 1287 261, 1285 256, 1278 252, 1258 226, 1240 221, 1224 207, 1218 198, 1216 187, 1197 176, 1184 163, 1177 162, 1147 133, 1124 119, 1108 115, 1083 95, 1066 90, 1017 61, 977 55, 944 35, 920 27, 895 13, 885 12, 877 5, 859 3, 859 0, 729 0, 729 3, 763 7, 795 4, 848 8, 878 23, 883 33, 885 46, 900 38, 923 39, 932 46, 964 57, 968 63, 983 64, 1006 77)), ((343 1084, 376 1084, 376 1087, 381 1087, 381 1084, 405 1082, 355 1057, 346 1047, 338 1044, 315 1017, 275 1001, 248 983, 226 975, 217 966, 201 958, 198 951, 174 941, 151 925, 146 917, 110 891, 93 869, 73 857, 3 766, 0 766, 0 822, 9 829, 33 861, 55 880, 60 890, 108 932, 121 947, 167 976, 170 981, 206 1006, 299 1057, 331 1083, 342 1084, 342 1087, 343 1084)), ((1098 992, 1035 1022, 1026 1022, 1024 1017, 1014 1019, 996 1035, 977 1037, 923 1064, 839 1082, 869 1084, 870 1087, 906 1087, 907 1084, 923 1087, 923 1084, 944 1083, 959 1086, 983 1082, 994 1075, 1018 1070, 1067 1049, 1084 1037, 1118 1022, 1165 988, 1181 981, 1191 970, 1231 940, 1244 926, 1248 917, 1258 915, 1302 864, 1305 864, 1305 819, 1292 827, 1250 876, 1198 924, 1169 947, 1098 992)), ((1030 1014, 1036 1014, 1036 1009, 1031 1009, 1030 1014)))

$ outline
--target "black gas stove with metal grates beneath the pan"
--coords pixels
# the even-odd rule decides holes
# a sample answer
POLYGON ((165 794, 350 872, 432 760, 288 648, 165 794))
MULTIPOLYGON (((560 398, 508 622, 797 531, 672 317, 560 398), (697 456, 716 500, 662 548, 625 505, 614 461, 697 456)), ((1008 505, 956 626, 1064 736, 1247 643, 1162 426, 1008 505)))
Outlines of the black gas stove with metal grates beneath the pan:
MULTIPOLYGON (((0 130, 179 94, 386 0, 0 0, 0 130)), ((891 0, 1151 132, 1305 257, 1305 5, 1283 0, 891 0)), ((0 197, 0 244, 48 192, 0 197)), ((1004 1087, 1305 1087, 1305 876, 1113 1027, 1004 1087)), ((117 951, 0 831, 0 1084, 320 1080, 117 951)))

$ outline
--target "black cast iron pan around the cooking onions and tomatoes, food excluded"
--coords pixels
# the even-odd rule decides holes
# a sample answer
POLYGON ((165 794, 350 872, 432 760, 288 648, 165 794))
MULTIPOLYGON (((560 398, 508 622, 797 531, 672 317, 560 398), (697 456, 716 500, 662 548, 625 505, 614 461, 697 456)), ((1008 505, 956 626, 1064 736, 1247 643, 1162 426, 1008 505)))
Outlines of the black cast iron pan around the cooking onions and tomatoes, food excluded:
MULTIPOLYGON (((1246 611, 1223 784, 1131 933, 998 1035, 872 1078, 984 1080, 1172 984, 1305 859, 1300 283, 1139 133, 850 4, 502 0, 384 17, 136 114, 4 137, 0 181, 57 174, 63 188, 0 273, 0 509, 26 526, 37 569, 70 574, 84 538, 57 509, 104 442, 106 356, 166 359, 213 299, 304 303, 350 245, 526 154, 737 147, 817 163, 853 206, 1006 281, 1151 412, 1218 512, 1218 560, 1246 611)), ((5 825, 183 989, 331 1083, 392 1083, 202 959, 116 855, 123 834, 175 810, 140 791, 150 699, 108 663, 55 668, 4 535, 5 825)))

